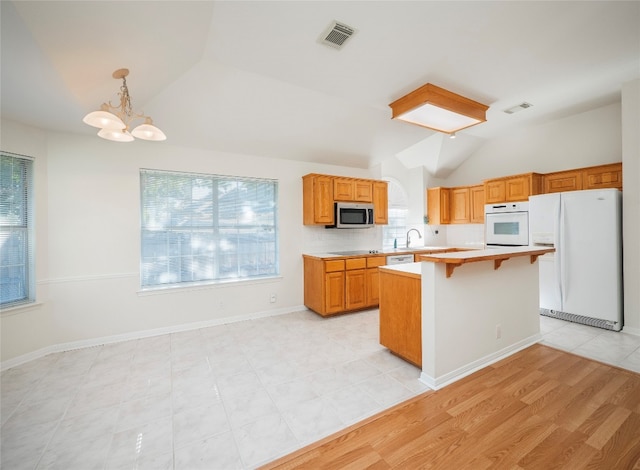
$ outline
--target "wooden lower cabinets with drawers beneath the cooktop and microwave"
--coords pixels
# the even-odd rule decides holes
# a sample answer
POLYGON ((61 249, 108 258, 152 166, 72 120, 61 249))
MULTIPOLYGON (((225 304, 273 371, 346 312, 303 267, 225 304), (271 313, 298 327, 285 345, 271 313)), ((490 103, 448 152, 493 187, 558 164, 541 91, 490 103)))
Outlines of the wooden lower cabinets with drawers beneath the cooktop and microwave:
POLYGON ((386 257, 320 259, 304 256, 304 304, 322 315, 378 306, 378 266, 386 257))

